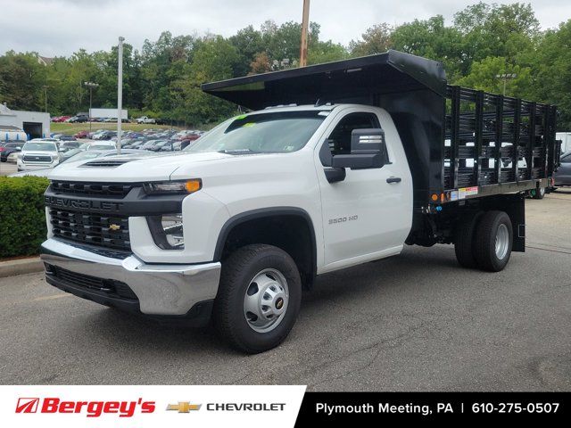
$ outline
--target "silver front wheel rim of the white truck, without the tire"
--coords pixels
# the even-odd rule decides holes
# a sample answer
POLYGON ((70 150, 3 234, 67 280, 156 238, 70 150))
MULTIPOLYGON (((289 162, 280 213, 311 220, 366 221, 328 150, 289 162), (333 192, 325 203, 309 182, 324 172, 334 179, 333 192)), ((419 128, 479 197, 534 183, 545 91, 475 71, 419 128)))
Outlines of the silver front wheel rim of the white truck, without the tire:
POLYGON ((244 317, 253 331, 268 333, 282 322, 288 303, 285 276, 277 269, 264 269, 246 287, 244 317))

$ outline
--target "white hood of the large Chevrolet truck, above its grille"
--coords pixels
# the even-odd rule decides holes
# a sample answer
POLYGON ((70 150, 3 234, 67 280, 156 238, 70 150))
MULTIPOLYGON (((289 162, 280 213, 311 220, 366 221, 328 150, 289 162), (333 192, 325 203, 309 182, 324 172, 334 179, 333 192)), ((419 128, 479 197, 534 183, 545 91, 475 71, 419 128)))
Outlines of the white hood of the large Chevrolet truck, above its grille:
POLYGON ((206 162, 224 161, 233 157, 219 152, 142 152, 106 156, 70 164, 62 163, 54 169, 50 178, 125 183, 170 180, 171 175, 182 166, 192 171, 206 162))

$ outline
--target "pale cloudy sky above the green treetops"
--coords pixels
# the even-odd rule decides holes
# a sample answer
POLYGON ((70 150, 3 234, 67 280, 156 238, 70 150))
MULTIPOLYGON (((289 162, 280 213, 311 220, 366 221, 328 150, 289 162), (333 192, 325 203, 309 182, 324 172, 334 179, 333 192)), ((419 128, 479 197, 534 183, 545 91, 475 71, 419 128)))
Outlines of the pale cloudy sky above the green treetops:
MULTIPOLYGON (((525 2, 525 0, 522 0, 525 2)), ((380 22, 401 24, 441 14, 447 23, 475 0, 310 0, 320 38, 348 45, 380 22)), ((489 0, 487 3, 493 3, 489 0)), ((513 3, 501 2, 496 3, 513 3)), ((527 0, 542 29, 571 18, 570 0, 527 0)), ((302 0, 0 0, 0 54, 68 56, 85 48, 109 50, 118 37, 140 49, 162 31, 174 36, 207 32, 228 37, 267 20, 301 21, 302 0)))

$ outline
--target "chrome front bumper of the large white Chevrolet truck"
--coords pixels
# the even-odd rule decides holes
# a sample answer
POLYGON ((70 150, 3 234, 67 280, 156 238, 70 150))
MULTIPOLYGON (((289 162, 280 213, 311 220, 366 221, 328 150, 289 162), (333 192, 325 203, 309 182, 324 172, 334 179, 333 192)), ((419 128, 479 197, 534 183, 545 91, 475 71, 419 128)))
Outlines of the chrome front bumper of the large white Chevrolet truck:
POLYGON ((128 309, 126 303, 130 302, 131 309, 151 316, 184 317, 194 314, 201 305, 211 309, 211 300, 218 292, 219 262, 149 265, 134 255, 125 254, 123 258, 119 255, 54 238, 48 239, 41 248, 47 282, 66 292, 123 309, 128 309), (57 268, 70 275, 56 276, 54 272, 57 272, 57 268), (105 294, 107 287, 98 289, 93 285, 98 278, 108 282, 105 284, 127 284, 137 299, 126 301, 105 294))

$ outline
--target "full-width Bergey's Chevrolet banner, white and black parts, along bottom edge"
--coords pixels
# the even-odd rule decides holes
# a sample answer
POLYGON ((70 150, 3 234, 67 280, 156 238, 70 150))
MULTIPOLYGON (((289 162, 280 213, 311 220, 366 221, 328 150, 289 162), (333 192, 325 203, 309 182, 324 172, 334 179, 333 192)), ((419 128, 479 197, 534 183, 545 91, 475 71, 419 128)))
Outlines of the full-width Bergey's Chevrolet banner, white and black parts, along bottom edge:
POLYGON ((326 426, 569 420, 568 392, 306 392, 305 386, 0 386, 2 426, 326 426))

